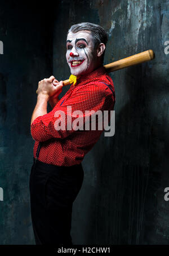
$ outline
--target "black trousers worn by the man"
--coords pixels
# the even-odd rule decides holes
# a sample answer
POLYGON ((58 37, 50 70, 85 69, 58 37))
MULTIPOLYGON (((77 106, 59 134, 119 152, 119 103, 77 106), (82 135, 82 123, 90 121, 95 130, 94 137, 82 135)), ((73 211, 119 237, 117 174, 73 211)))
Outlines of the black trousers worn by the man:
POLYGON ((34 161, 29 189, 36 244, 72 245, 72 206, 83 176, 81 164, 56 166, 34 161))

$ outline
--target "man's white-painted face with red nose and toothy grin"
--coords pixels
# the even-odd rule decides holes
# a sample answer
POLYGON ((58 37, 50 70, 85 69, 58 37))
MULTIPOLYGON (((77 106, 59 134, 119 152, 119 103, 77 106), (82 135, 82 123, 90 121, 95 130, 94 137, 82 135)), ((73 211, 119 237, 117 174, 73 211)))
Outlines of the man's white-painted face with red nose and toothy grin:
POLYGON ((74 76, 91 73, 98 66, 97 52, 91 32, 82 30, 69 32, 66 43, 66 60, 74 76), (72 56, 70 56, 72 52, 72 56))

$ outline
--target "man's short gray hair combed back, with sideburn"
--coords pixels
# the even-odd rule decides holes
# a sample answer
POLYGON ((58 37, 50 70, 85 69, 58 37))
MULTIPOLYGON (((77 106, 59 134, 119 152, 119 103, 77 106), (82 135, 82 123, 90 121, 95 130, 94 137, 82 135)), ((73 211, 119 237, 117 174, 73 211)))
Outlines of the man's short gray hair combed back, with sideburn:
MULTIPOLYGON (((68 33, 77 33, 81 30, 91 31, 95 49, 100 45, 100 43, 104 43, 104 45, 106 46, 106 43, 108 42, 108 36, 101 26, 90 22, 78 23, 72 25, 72 27, 70 27, 70 29, 68 30, 68 33)), ((105 51, 103 52, 102 58, 104 58, 104 53, 105 51)))

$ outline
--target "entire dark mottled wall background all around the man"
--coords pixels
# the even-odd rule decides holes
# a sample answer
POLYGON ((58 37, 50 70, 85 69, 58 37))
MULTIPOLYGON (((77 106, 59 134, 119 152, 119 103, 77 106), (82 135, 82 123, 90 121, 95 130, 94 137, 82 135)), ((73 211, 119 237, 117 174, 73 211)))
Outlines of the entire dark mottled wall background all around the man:
POLYGON ((110 74, 115 135, 103 133, 82 162, 73 243, 169 243, 169 201, 164 201, 169 187, 168 7, 168 0, 1 2, 0 244, 34 244, 29 173, 35 91, 45 77, 70 76, 66 33, 82 21, 100 24, 108 33, 105 64, 149 49, 155 59, 110 74))

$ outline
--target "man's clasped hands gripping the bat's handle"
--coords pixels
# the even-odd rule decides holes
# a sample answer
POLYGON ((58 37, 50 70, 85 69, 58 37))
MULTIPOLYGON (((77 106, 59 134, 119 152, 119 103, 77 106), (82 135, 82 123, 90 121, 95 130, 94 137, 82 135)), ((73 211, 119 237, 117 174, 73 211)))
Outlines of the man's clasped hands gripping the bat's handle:
POLYGON ((55 95, 56 98, 60 94, 60 89, 62 87, 63 81, 58 82, 54 76, 51 76, 50 78, 45 78, 38 83, 37 94, 46 95, 48 96, 48 99, 55 95))

